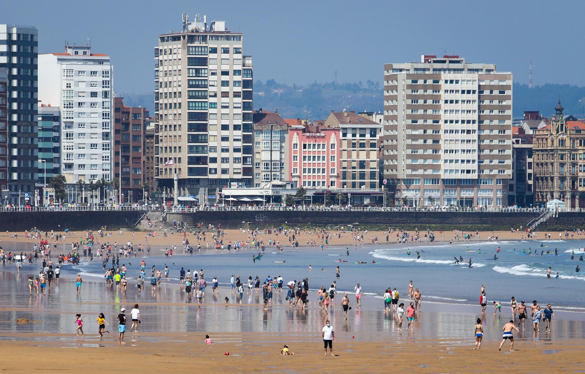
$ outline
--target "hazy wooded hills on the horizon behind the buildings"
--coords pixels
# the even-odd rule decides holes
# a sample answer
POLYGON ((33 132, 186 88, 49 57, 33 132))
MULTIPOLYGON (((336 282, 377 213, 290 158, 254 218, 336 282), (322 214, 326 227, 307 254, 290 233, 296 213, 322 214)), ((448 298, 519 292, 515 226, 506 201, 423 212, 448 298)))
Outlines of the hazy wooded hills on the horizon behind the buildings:
MULTIPOLYGON (((153 93, 121 93, 124 104, 154 108, 153 93)), ((585 87, 570 84, 544 84, 528 89, 527 84, 514 83, 514 118, 522 118, 525 110, 539 110, 550 117, 557 101, 565 107, 565 113, 583 118, 585 115, 585 87), (581 100, 581 101, 579 101, 581 100)), ((313 120, 327 117, 329 111, 343 108, 359 111, 384 110, 383 87, 379 82, 358 83, 313 83, 309 86, 288 86, 273 79, 254 82, 254 109, 274 111, 283 118, 307 118, 313 120)))

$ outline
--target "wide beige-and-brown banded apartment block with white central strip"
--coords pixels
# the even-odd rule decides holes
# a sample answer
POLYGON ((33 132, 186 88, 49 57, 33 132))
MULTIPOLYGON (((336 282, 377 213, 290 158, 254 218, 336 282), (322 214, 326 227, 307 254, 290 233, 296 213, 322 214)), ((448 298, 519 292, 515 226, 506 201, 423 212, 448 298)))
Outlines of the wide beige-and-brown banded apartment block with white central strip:
POLYGON ((507 205, 512 74, 459 56, 385 64, 383 146, 397 205, 507 205))

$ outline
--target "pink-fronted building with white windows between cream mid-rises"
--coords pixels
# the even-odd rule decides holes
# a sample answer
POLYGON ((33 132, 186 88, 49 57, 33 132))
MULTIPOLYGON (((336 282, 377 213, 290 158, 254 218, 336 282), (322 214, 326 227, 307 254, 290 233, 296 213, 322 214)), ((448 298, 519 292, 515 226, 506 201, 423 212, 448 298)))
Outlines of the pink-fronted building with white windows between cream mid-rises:
POLYGON ((304 188, 339 187, 339 127, 290 125, 290 180, 304 188))

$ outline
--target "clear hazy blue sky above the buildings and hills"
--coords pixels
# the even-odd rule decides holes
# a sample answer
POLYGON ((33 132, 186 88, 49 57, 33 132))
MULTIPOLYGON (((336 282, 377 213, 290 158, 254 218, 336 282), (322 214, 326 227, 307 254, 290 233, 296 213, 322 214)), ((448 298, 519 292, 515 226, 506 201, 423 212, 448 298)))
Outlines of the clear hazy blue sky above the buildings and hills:
POLYGON ((585 1, 174 1, 27 0, 2 4, 0 23, 39 29, 39 53, 63 52, 65 40, 87 43, 114 64, 115 90, 154 89, 157 35, 181 29, 181 13, 226 21, 243 33, 254 79, 287 84, 383 81, 384 63, 454 54, 495 63, 528 83, 585 86, 585 1), (573 16, 572 16, 573 15, 573 16))

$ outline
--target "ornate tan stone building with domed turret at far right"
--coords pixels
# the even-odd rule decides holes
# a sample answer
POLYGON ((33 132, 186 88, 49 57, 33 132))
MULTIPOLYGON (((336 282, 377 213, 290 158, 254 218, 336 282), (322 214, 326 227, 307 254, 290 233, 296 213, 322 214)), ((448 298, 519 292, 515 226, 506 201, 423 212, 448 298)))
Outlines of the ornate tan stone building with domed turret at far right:
POLYGON ((585 123, 568 121, 563 109, 559 101, 550 124, 534 131, 535 205, 585 208, 585 123))

